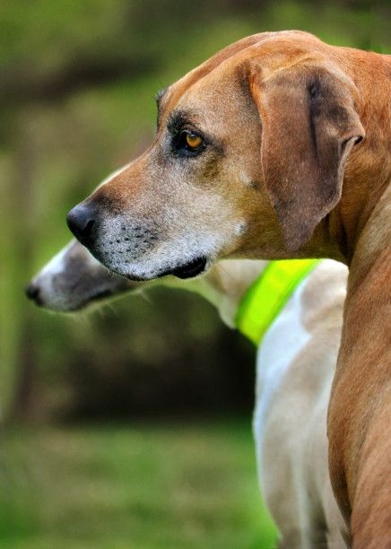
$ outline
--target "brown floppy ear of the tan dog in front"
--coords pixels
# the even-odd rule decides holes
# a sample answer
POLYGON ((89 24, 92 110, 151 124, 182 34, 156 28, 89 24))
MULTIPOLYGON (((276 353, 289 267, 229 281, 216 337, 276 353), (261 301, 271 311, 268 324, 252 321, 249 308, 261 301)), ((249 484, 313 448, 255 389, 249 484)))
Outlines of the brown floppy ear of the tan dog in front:
POLYGON ((253 71, 262 120, 262 168, 285 246, 297 251, 338 203, 348 154, 365 136, 359 92, 343 74, 295 65, 270 77, 253 71))

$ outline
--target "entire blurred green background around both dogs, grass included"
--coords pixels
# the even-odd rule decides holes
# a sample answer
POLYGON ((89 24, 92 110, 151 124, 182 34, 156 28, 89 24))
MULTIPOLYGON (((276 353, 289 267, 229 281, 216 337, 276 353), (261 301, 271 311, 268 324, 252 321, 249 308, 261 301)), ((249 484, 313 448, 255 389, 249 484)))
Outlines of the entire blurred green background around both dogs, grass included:
POLYGON ((70 318, 23 288, 69 209, 149 144, 161 88, 263 30, 387 53, 389 23, 368 0, 2 1, 1 547, 274 545, 252 346, 187 292, 70 318))

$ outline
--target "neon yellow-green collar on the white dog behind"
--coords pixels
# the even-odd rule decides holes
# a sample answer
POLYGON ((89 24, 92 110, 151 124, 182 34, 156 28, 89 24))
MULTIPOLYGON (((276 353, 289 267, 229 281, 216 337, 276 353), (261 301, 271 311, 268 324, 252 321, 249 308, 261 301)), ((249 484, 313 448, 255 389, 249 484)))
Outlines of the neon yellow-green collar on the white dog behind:
POLYGON ((292 292, 320 262, 321 259, 271 261, 239 305, 235 318, 239 331, 258 345, 292 292))

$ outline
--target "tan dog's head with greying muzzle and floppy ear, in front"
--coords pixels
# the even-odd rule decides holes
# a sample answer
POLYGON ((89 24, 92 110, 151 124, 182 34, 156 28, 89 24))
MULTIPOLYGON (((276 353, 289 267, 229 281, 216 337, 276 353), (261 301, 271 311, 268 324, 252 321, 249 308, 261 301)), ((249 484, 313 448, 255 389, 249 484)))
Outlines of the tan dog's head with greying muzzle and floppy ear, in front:
POLYGON ((68 214, 75 236, 137 280, 195 276, 221 257, 323 255, 314 229, 365 135, 334 49, 256 35, 160 92, 153 144, 68 214))

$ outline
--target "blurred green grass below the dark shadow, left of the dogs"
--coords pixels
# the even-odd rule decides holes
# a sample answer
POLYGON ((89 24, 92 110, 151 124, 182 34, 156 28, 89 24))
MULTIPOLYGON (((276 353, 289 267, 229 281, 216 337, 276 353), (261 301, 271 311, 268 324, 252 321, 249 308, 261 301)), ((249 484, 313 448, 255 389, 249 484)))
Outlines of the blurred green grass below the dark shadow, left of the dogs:
POLYGON ((0 546, 268 549, 249 422, 9 428, 0 546))

